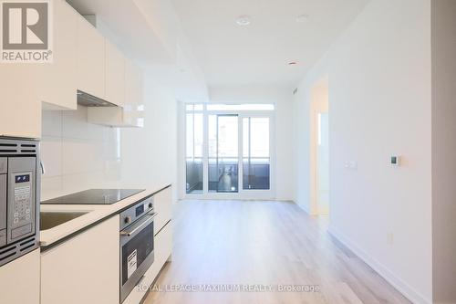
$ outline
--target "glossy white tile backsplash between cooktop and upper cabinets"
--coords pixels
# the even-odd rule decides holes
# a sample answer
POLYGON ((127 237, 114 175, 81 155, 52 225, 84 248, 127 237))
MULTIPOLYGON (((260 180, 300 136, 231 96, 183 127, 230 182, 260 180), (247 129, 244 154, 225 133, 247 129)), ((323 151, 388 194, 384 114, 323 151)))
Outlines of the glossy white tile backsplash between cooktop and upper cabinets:
POLYGON ((118 129, 88 123, 86 107, 44 110, 42 199, 119 183, 119 141, 118 129))

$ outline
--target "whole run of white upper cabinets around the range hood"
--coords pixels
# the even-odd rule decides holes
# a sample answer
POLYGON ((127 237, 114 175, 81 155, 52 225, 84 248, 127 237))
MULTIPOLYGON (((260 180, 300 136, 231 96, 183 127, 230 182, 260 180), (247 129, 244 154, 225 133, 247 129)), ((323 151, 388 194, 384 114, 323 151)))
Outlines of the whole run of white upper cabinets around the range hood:
POLYGON ((53 4, 53 62, 0 68, 0 135, 41 137, 43 105, 48 110, 75 110, 78 89, 120 106, 89 109, 90 122, 142 126, 141 69, 66 1, 53 4))

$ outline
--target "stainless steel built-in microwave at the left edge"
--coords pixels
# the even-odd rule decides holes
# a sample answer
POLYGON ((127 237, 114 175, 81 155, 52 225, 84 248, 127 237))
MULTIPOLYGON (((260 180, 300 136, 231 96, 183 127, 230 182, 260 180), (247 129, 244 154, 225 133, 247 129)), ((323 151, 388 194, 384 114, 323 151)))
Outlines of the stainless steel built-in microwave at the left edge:
POLYGON ((39 142, 0 137, 0 266, 39 243, 39 142))

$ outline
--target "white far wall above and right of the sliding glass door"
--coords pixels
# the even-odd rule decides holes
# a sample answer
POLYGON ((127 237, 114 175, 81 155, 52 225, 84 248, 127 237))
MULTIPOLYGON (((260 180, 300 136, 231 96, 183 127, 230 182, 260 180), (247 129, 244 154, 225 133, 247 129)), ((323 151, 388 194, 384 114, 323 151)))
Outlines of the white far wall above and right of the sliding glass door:
POLYGON ((293 115, 290 89, 272 87, 212 88, 213 103, 275 103, 275 199, 293 200, 293 115))

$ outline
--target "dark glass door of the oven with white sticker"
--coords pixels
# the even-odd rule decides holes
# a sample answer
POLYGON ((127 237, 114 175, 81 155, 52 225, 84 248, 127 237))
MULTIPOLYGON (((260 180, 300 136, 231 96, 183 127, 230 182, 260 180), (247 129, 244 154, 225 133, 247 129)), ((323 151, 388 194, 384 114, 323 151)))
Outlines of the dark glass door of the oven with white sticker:
MULTIPOLYGON (((135 236, 121 236, 120 246, 121 286, 124 286, 137 270, 145 268, 146 271, 149 268, 142 264, 150 261, 150 255, 153 255, 153 221, 135 236)), ((142 275, 143 273, 140 277, 142 275)), ((138 275, 133 276, 137 277, 138 275)))

